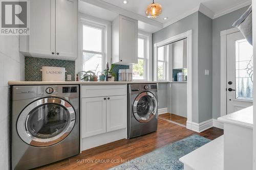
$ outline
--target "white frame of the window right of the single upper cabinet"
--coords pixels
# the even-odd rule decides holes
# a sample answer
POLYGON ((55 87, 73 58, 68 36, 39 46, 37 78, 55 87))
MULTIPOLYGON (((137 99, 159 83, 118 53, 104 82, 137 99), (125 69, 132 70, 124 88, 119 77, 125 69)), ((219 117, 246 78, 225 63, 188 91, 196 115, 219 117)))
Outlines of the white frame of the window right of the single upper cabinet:
MULTIPOLYGON (((137 81, 152 81, 152 34, 147 33, 144 31, 139 30, 138 32, 138 38, 144 39, 144 58, 140 58, 144 60, 144 78, 143 79, 137 79, 134 80, 135 82, 137 81)), ((133 66, 130 66, 130 68, 133 68, 133 66)))

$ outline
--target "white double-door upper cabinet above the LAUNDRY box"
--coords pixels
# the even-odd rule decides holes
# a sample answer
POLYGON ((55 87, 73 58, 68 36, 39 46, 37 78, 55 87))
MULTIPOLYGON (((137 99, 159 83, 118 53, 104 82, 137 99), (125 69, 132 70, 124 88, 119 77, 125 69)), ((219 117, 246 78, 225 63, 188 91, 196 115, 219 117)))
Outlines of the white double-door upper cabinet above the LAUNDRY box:
POLYGON ((30 1, 30 35, 20 36, 19 51, 33 57, 77 58, 77 1, 30 1))

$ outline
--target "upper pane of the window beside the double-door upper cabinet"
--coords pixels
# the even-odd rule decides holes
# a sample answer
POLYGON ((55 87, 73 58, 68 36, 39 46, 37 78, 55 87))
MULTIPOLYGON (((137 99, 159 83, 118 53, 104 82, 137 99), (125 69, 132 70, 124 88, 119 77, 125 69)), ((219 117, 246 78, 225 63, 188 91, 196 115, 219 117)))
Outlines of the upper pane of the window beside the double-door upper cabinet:
POLYGON ((83 25, 83 50, 102 52, 102 30, 83 25))

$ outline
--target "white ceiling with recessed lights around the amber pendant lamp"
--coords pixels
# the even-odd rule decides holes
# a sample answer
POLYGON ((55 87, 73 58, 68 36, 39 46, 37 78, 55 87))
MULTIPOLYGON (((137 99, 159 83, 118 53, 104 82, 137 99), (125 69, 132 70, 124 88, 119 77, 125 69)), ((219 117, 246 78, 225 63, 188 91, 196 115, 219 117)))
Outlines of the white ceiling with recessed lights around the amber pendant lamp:
POLYGON ((251 0, 155 0, 162 5, 162 14, 156 19, 149 19, 145 9, 152 0, 127 1, 123 4, 123 0, 80 0, 79 12, 109 21, 122 14, 139 20, 141 30, 154 33, 196 11, 216 18, 251 4, 251 0), (168 19, 164 20, 164 17, 168 19))

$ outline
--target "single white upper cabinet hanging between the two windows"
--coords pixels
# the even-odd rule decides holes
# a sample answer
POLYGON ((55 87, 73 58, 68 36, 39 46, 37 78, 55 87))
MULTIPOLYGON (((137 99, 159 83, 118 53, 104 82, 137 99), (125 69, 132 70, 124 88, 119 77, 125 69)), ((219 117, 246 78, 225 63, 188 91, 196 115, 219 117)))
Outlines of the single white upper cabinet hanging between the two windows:
POLYGON ((138 63, 138 20, 119 15, 113 21, 112 63, 138 63))

